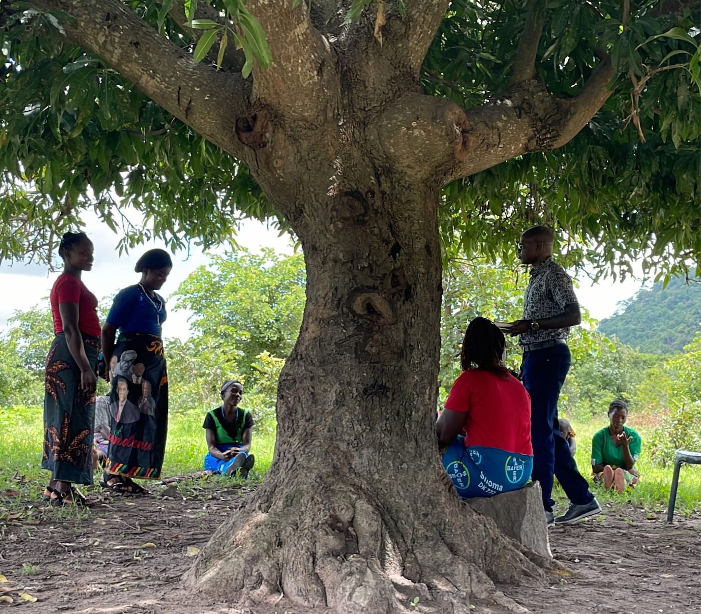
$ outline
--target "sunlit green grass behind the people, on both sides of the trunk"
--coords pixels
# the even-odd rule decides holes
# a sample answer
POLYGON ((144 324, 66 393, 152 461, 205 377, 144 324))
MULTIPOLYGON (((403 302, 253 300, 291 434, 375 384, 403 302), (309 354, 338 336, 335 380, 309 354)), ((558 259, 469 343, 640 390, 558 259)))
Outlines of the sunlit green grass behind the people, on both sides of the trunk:
MULTIPOLYGON (((43 434, 41 408, 15 407, 0 409, 0 497, 6 491, 16 491, 23 497, 36 496, 46 484, 48 474, 41 469, 41 441, 43 434)), ((172 415, 168 425, 168 446, 166 448, 163 476, 200 471, 206 452, 205 436, 202 428, 203 415, 172 415)), ((590 479, 590 452, 592 436, 605 422, 575 422, 577 433, 577 465, 587 479, 590 479)), ((641 479, 635 488, 625 495, 613 491, 605 492, 592 487, 602 505, 618 507, 625 502, 644 507, 650 512, 661 512, 667 507, 669 486, 672 482, 672 467, 653 465, 645 455, 645 441, 651 433, 650 427, 639 427, 632 421, 630 427, 637 429, 643 439, 643 451, 637 468, 641 479)), ((251 478, 259 481, 264 478, 273 459, 275 436, 254 432, 252 452, 256 455, 256 465, 251 478)), ((229 478, 213 476, 211 480, 226 481, 229 478)), ((186 483, 182 484, 187 488, 186 483)), ((562 489, 555 494, 564 503, 562 489)), ((679 477, 679 493, 676 500, 677 514, 691 514, 701 509, 701 467, 682 467, 679 477)), ((0 507, 6 513, 21 512, 25 508, 17 502, 13 508, 12 497, 2 497, 0 507)), ((75 516, 80 508, 57 510, 60 514, 75 516)))

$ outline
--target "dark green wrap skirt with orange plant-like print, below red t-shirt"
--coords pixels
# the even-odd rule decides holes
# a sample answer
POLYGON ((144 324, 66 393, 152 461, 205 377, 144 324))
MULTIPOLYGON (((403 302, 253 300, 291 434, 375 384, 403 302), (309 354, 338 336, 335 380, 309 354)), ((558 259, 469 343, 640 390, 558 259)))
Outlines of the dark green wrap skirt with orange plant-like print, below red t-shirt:
MULTIPOLYGON (((100 340, 82 334, 88 363, 97 366, 100 340)), ((80 389, 81 370, 58 333, 46 357, 44 380, 44 441, 41 468, 55 480, 93 483, 95 393, 80 389)))

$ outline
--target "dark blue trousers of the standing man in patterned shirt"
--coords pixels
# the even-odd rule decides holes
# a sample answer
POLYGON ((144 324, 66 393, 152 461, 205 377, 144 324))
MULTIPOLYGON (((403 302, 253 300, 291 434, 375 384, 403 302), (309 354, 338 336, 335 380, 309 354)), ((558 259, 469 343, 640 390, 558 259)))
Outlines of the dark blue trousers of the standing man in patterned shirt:
POLYGON ((564 343, 524 352, 521 363, 521 378, 531 395, 531 479, 540 482, 543 507, 548 512, 552 512, 554 505, 551 497, 553 475, 557 476, 571 502, 584 505, 594 498, 589 492, 589 484, 577 469, 557 422, 557 400, 571 363, 569 347, 564 343))

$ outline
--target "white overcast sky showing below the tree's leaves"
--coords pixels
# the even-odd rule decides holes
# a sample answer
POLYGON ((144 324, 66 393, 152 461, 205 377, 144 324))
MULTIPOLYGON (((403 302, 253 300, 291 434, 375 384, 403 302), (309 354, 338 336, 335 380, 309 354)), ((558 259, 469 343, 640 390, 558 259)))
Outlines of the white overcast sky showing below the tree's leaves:
MULTIPOLYGON (((163 243, 154 241, 119 256, 116 251, 119 236, 101 224, 97 218, 86 215, 83 219, 86 222, 85 230, 95 243, 95 265, 92 271, 83 274, 83 281, 98 299, 137 283, 139 274, 134 272, 134 265, 139 255, 151 247, 163 247, 163 243)), ((252 220, 243 222, 236 240, 240 246, 251 251, 271 247, 280 253, 292 253, 292 245, 286 236, 278 237, 277 230, 267 229, 264 224, 252 220)), ((219 247, 210 250, 210 253, 224 251, 225 247, 219 247)), ((194 269, 207 264, 207 260, 207 255, 196 246, 191 246, 189 254, 184 251, 176 253, 172 272, 168 282, 161 289, 161 294, 168 299, 179 283, 194 269)), ((0 302, 0 328, 5 328, 8 317, 15 309, 25 310, 40 303, 48 305, 48 294, 58 274, 49 273, 45 265, 0 265, 0 287, 5 291, 9 290, 5 300, 0 302)), ((618 301, 634 295, 641 284, 634 279, 623 283, 614 283, 611 279, 606 279, 592 285, 586 276, 580 276, 578 282, 577 295, 580 303, 597 319, 613 314, 618 301)), ((168 320, 163 325, 163 336, 186 338, 189 334, 188 316, 187 312, 174 312, 169 309, 168 320)))

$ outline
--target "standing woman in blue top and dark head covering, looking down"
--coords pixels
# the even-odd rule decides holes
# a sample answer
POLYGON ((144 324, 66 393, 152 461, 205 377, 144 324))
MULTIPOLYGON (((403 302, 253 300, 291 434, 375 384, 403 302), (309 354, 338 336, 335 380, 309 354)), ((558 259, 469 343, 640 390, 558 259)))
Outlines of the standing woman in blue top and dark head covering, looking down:
POLYGON ((170 269, 168 252, 152 249, 142 255, 135 267, 141 281, 116 295, 102 326, 104 361, 109 365, 113 356, 117 360, 114 375, 107 370, 111 432, 101 485, 118 493, 146 493, 134 478, 161 479, 168 375, 161 338, 165 300, 156 291, 170 269), (144 391, 149 399, 144 399, 144 391))

